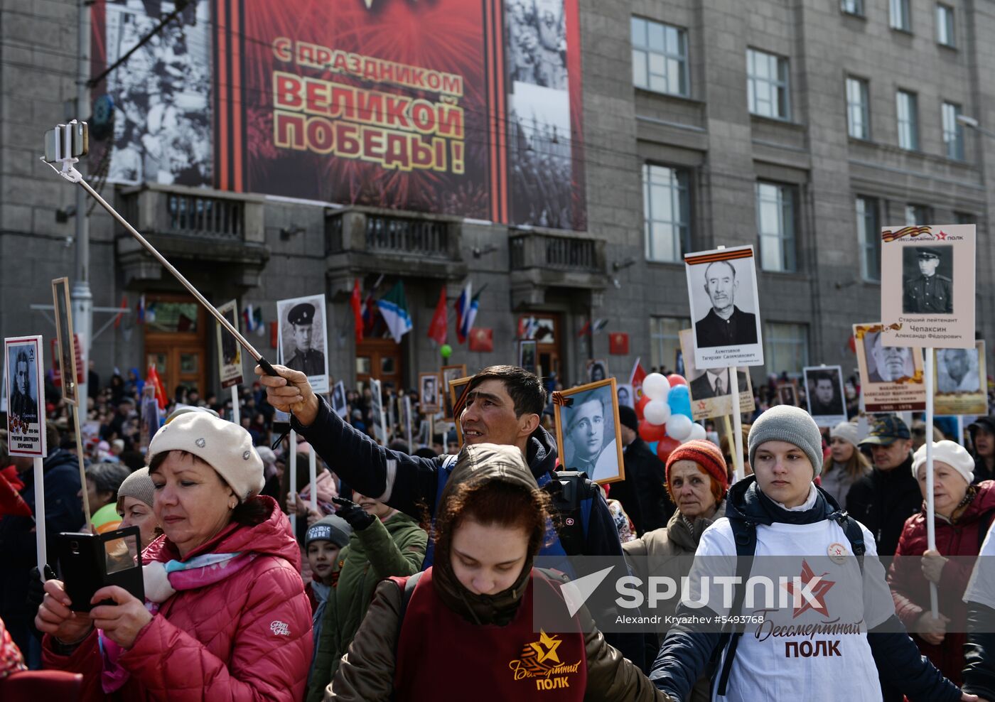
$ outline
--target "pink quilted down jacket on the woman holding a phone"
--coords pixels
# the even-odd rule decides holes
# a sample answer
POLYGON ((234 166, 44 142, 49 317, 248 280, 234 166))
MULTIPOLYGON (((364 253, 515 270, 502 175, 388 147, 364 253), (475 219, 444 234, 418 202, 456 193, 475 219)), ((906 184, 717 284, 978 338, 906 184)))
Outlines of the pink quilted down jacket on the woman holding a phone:
POLYGON ((97 633, 70 655, 46 634, 47 668, 83 673, 83 702, 170 700, 297 702, 310 665, 311 615, 298 575, 298 545, 273 498, 270 517, 254 527, 231 524, 181 559, 162 536, 142 553, 145 563, 208 553, 254 552, 257 558, 228 579, 179 591, 138 632, 118 663, 130 677, 112 695, 100 687, 97 633))

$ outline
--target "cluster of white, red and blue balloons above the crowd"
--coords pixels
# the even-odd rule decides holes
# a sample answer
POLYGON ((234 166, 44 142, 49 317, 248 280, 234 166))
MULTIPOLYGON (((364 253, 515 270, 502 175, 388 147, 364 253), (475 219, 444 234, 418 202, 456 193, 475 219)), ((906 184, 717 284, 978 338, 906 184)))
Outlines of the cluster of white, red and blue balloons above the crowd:
POLYGON ((636 404, 639 436, 667 460, 685 441, 704 439, 704 427, 692 421, 688 381, 677 373, 651 373, 643 379, 643 397, 636 404))

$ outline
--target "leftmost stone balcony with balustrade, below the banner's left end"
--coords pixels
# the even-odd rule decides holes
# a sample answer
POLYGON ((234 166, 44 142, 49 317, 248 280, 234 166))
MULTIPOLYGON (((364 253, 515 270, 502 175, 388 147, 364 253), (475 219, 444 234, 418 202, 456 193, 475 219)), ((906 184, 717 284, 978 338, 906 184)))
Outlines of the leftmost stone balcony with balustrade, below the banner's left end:
MULTIPOLYGON (((224 263, 234 282, 259 284, 270 258, 262 196, 144 183, 118 189, 116 208, 168 261, 224 263)), ((115 240, 126 280, 163 277, 161 264, 123 227, 115 240)))

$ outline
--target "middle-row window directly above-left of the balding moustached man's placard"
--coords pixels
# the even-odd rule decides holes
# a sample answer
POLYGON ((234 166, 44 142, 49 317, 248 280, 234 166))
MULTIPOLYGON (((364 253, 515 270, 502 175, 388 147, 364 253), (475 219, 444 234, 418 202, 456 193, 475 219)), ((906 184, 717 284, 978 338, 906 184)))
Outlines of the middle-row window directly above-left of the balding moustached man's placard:
POLYGON ((646 258, 677 263, 691 250, 691 198, 688 171, 643 166, 646 258))

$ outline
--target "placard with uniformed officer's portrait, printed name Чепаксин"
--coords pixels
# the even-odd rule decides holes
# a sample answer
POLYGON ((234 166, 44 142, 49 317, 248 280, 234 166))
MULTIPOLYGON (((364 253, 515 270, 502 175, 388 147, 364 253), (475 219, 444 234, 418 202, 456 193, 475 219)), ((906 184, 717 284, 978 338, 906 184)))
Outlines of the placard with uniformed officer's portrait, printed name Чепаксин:
POLYGON ((974 225, 882 229, 885 343, 974 348, 974 225))

